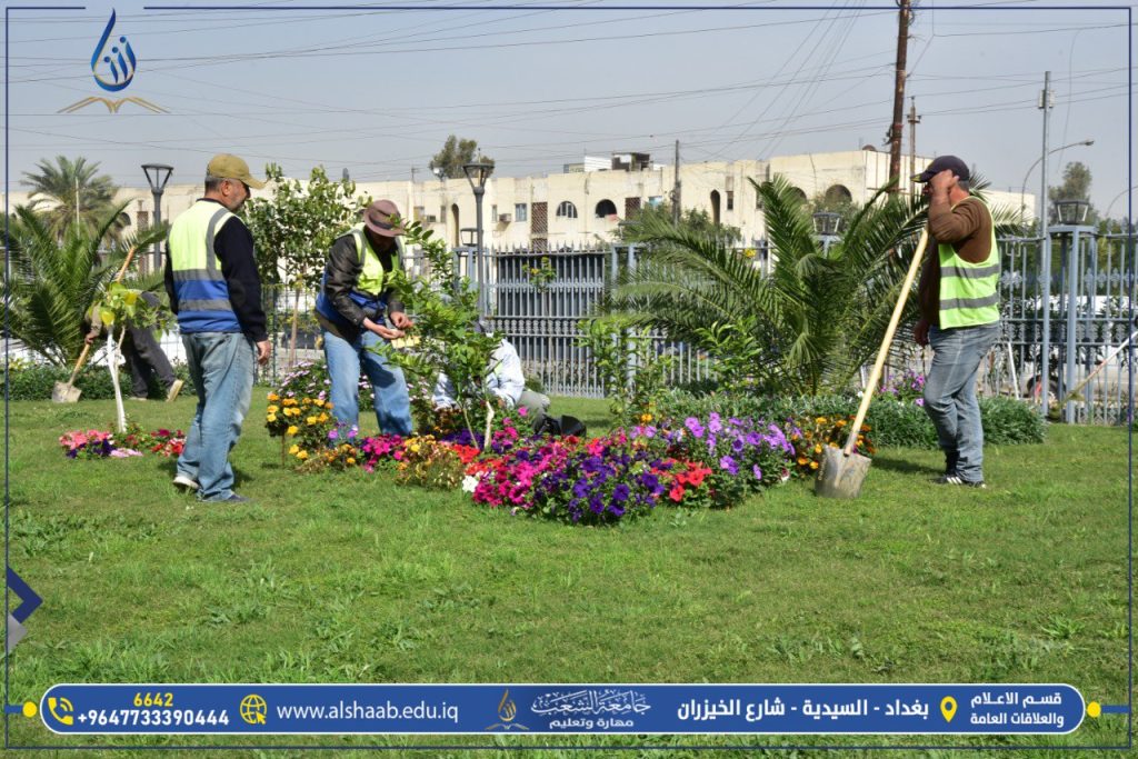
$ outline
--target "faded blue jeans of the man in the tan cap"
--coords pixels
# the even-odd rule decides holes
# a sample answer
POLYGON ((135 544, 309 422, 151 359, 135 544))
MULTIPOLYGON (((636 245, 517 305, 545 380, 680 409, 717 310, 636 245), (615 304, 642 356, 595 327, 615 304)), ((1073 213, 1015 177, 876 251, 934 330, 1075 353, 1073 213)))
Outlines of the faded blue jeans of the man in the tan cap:
POLYGON ((229 452, 249 413, 256 353, 253 340, 240 332, 183 333, 182 345, 198 389, 198 407, 178 457, 178 473, 198 482, 200 501, 224 501, 233 495, 229 452))

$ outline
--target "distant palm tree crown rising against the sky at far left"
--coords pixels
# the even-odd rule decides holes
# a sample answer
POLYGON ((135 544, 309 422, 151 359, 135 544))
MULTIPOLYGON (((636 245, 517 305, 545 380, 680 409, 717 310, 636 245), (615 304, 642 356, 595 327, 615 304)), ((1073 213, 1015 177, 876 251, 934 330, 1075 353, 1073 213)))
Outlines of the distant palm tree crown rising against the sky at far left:
MULTIPOLYGON (((76 221, 93 231, 106 218, 118 188, 109 176, 98 173, 98 163, 88 163, 82 156, 74 160, 56 156, 55 164, 43 159, 35 167, 35 173, 24 172, 22 183, 32 188, 31 208, 44 216, 57 239, 63 239, 64 230, 76 221)), ((108 233, 118 232, 121 218, 108 228, 108 233)))

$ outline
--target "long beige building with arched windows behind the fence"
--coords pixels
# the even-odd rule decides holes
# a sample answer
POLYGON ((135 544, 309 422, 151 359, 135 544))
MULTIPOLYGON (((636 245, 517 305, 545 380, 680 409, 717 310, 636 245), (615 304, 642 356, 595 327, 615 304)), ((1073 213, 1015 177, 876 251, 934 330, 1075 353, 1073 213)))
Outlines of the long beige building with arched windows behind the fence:
MULTIPOLYGON (((918 157, 916 168, 932 158, 918 157)), ((908 158, 904 174, 913 173, 908 158)), ((173 218, 200 196, 195 167, 175 167, 163 196, 163 218, 173 218), (187 180, 192 178, 192 183, 187 180)), ((873 149, 776 156, 760 160, 683 164, 679 170, 684 208, 707 212, 714 221, 737 226, 744 244, 766 236, 762 209, 751 180, 785 176, 806 199, 818 197, 861 203, 888 180, 889 155, 873 149)), ((483 226, 487 247, 559 249, 609 242, 617 225, 644 207, 665 203, 675 183, 675 167, 655 164, 646 154, 615 152, 603 159, 586 156, 560 174, 495 176, 486 184, 483 226)), ((915 185, 902 183, 904 191, 915 185)), ((360 193, 390 198, 404 214, 422 221, 451 246, 473 242, 475 197, 465 179, 361 182, 360 193)), ((1033 209, 1036 198, 988 190, 997 205, 1033 209)), ((146 188, 119 191, 129 200, 134 225, 150 222, 152 199, 146 188)), ((11 203, 27 203, 26 192, 13 192, 11 203)), ((1030 215, 1030 212, 1029 212, 1030 215)))

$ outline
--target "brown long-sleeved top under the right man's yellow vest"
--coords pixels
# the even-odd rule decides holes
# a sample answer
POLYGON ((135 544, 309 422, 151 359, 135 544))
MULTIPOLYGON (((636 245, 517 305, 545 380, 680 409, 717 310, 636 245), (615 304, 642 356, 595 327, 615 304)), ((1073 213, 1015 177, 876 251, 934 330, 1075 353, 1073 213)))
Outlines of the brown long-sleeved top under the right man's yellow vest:
POLYGON ((929 248, 917 294, 921 316, 930 324, 940 325, 940 256, 941 242, 951 245, 956 253, 972 264, 988 259, 992 245, 992 216, 980 201, 970 203, 972 196, 955 206, 929 207, 929 248))

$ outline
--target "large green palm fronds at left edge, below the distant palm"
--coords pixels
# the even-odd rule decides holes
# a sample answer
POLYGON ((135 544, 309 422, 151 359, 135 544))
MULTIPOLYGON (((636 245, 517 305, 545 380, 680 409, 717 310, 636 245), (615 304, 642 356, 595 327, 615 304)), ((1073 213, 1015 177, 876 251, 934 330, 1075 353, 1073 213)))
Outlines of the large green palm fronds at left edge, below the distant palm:
MULTIPOLYGON (((30 350, 68 366, 83 349, 83 319, 114 279, 126 251, 162 240, 166 226, 147 229, 100 256, 100 246, 125 204, 105 212, 93 231, 67 226, 58 238, 48 221, 16 209, 9 234, 11 278, 5 282, 8 328, 30 350)), ((6 277, 7 279, 7 277, 6 277)))

